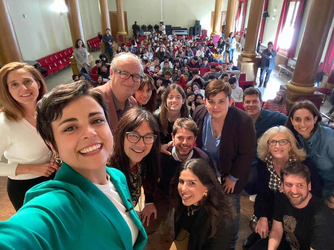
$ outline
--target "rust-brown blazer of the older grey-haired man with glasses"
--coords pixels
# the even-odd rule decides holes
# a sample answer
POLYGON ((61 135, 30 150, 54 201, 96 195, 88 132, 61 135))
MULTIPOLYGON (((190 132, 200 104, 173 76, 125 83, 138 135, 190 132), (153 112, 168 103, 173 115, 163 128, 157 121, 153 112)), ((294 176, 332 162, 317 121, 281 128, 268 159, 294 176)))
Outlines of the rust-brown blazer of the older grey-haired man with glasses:
MULTIPOLYGON (((105 98, 106 102, 108 103, 109 107, 109 119, 110 119, 110 124, 112 128, 112 132, 114 134, 114 129, 116 128, 116 125, 118 123, 118 117, 117 117, 117 112, 116 112, 116 107, 114 103, 113 96, 111 94, 111 81, 105 83, 102 86, 96 87, 95 89, 98 89, 102 92, 103 97, 105 98)), ((129 97, 129 103, 131 107, 138 107, 138 103, 136 99, 132 96, 129 97)))

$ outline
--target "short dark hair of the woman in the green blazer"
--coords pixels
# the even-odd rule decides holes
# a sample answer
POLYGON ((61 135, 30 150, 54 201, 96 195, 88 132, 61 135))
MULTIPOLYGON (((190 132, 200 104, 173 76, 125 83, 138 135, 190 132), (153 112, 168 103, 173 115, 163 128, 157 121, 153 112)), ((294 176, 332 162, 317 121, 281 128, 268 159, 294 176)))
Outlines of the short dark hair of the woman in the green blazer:
MULTIPOLYGON (((48 141, 57 150, 54 140, 51 123, 58 120, 62 116, 63 109, 81 96, 92 97, 97 101, 104 112, 106 121, 110 126, 108 104, 102 93, 92 88, 87 80, 79 80, 69 84, 61 84, 54 87, 49 93, 45 94, 42 99, 37 102, 36 107, 36 129, 44 141, 48 141)), ((47 145, 51 150, 51 148, 47 145)))

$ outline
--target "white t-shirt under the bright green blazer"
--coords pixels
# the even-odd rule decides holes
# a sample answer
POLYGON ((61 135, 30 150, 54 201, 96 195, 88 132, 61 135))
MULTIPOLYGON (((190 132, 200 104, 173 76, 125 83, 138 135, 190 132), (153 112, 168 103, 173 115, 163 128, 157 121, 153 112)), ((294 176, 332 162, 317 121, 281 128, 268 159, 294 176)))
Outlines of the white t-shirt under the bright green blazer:
POLYGON ((98 189, 100 189, 108 198, 111 200, 111 202, 115 205, 117 210, 120 212, 126 223, 128 224, 131 235, 132 235, 132 246, 135 245, 137 237, 138 237, 138 228, 136 224, 131 219, 130 215, 125 212, 126 207, 124 206, 124 203, 122 201, 121 196, 117 192, 114 184, 110 181, 110 176, 107 174, 108 177, 108 183, 105 185, 100 185, 93 183, 98 189))

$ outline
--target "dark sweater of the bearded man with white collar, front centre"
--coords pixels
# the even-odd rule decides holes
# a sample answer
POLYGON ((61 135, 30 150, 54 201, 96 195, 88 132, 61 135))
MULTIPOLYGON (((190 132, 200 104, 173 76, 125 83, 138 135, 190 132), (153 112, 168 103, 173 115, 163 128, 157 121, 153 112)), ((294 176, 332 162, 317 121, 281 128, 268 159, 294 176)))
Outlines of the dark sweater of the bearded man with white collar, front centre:
MULTIPOLYGON (((169 147, 167 150, 172 153, 173 147, 169 147)), ((199 159, 202 158, 210 164, 213 168, 213 162, 211 158, 203 150, 194 147, 193 155, 190 159, 199 159)), ((174 177, 175 173, 178 173, 180 170, 180 165, 182 161, 176 161, 172 155, 160 154, 160 167, 161 167, 161 178, 158 183, 158 189, 160 189, 165 195, 170 195, 170 182, 174 177)), ((145 203, 153 202, 153 195, 145 193, 145 203)))

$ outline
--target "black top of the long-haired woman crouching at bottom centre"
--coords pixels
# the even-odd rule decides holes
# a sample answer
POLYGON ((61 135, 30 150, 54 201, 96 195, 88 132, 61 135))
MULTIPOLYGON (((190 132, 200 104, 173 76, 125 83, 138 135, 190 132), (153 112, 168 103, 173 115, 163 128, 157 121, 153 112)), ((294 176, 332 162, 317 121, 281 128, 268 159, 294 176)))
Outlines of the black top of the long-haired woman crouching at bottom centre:
POLYGON ((228 250, 233 234, 232 218, 221 216, 213 237, 208 213, 204 207, 188 216, 186 206, 181 205, 181 216, 174 220, 175 235, 181 228, 189 233, 188 250, 228 250))

